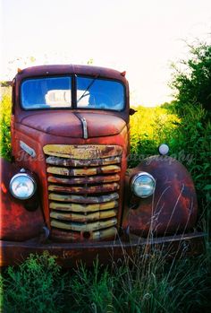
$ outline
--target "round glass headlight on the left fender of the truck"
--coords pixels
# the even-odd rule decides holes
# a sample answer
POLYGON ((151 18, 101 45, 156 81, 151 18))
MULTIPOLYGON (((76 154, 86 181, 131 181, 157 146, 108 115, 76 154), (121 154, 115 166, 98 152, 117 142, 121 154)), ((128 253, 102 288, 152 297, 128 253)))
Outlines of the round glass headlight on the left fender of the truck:
POLYGON ((26 200, 33 196, 36 188, 36 181, 26 173, 16 174, 10 181, 12 195, 21 200, 26 200))

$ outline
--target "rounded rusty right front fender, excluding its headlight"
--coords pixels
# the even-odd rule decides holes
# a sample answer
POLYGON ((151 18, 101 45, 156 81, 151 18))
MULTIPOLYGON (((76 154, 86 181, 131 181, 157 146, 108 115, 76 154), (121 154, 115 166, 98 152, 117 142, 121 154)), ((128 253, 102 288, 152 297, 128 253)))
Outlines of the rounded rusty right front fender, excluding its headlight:
POLYGON ((125 202, 123 229, 147 236, 183 232, 194 227, 197 219, 197 196, 189 172, 175 159, 152 156, 129 170, 125 183, 128 195, 125 202), (131 178, 146 171, 156 179, 153 196, 137 198, 131 193, 131 178), (129 192, 130 190, 130 192, 129 192))

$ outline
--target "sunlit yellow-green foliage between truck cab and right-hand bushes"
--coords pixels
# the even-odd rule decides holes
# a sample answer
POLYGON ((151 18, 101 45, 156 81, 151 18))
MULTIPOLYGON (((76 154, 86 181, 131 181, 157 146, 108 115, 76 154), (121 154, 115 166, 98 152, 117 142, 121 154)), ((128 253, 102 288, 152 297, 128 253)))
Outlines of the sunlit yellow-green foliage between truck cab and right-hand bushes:
POLYGON ((131 155, 129 166, 136 166, 149 155, 157 154, 161 143, 173 139, 174 130, 180 124, 177 115, 165 108, 139 106, 131 117, 131 155))

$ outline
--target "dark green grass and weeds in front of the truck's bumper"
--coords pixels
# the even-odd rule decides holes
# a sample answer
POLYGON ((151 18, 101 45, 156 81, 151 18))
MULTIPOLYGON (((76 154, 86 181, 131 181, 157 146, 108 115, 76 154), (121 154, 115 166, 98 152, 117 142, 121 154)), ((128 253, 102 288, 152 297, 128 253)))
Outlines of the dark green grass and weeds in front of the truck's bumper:
MULTIPOLYGON (((156 248, 122 264, 95 261, 63 271, 55 257, 30 256, 1 277, 4 312, 209 312, 210 259, 198 256, 166 260, 156 248)), ((146 252, 146 251, 145 251, 146 252)))

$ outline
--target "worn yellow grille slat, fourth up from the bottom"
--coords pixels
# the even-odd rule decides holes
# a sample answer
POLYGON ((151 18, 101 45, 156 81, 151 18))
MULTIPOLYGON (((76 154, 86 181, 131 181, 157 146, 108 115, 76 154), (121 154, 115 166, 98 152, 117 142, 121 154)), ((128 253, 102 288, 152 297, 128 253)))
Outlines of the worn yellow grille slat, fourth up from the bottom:
POLYGON ((118 206, 117 201, 105 202, 104 204, 63 204, 50 202, 50 208, 58 211, 72 211, 80 213, 89 213, 95 211, 114 209, 118 206))

